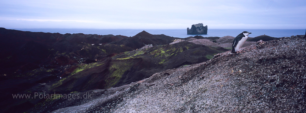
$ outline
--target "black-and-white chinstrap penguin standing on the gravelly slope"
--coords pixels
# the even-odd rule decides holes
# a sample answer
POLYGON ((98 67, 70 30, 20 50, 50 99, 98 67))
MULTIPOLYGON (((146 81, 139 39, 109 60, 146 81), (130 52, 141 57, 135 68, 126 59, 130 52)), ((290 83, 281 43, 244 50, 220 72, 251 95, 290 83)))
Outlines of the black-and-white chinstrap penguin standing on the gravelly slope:
POLYGON ((242 45, 245 43, 245 41, 247 40, 247 36, 251 34, 250 32, 247 31, 243 31, 242 33, 240 33, 238 36, 236 36, 236 38, 233 41, 233 49, 232 52, 236 53, 236 52, 240 52, 242 50, 240 50, 240 48, 242 47, 242 45))

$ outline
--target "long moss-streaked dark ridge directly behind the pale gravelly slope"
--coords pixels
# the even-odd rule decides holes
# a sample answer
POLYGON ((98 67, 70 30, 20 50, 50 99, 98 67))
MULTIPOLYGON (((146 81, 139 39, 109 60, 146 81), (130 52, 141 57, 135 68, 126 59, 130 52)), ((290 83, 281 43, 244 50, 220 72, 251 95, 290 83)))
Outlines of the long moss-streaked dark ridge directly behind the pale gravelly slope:
MULTIPOLYGON (((106 69, 105 72, 91 72, 96 70, 92 68, 97 65, 102 65, 101 63, 81 64, 78 65, 71 75, 67 77, 69 79, 57 82, 52 86, 52 88, 63 87, 62 90, 66 89, 67 91, 74 91, 77 90, 75 88, 77 86, 76 83, 80 84, 81 82, 87 84, 77 86, 82 87, 82 89, 92 88, 93 83, 100 88, 111 88, 126 81, 125 76, 131 76, 129 74, 135 75, 138 73, 148 73, 153 70, 172 69, 182 65, 200 63, 211 59, 214 54, 223 51, 223 49, 224 48, 197 45, 190 42, 181 42, 177 44, 167 44, 123 52, 112 57, 109 64, 104 68, 106 69), (136 63, 142 67, 135 66, 136 63), (148 72, 145 72, 142 69, 147 70, 148 72)), ((150 76, 147 74, 139 75, 146 77, 150 76)))

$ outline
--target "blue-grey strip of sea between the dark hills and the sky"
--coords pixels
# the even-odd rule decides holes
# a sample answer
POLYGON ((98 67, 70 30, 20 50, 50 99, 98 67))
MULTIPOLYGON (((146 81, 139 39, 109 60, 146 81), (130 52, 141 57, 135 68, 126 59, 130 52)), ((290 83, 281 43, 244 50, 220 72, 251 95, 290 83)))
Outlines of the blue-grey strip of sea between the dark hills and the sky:
MULTIPOLYGON (((146 31, 153 35, 164 34, 166 36, 186 38, 196 35, 187 35, 186 29, 55 29, 55 28, 36 28, 36 29, 15 29, 20 31, 31 32, 50 32, 60 34, 97 34, 97 35, 122 35, 122 36, 135 36, 142 31, 146 31)), ((296 35, 305 35, 305 29, 208 29, 207 35, 200 35, 203 37, 224 37, 233 36, 236 37, 243 31, 251 32, 249 37, 256 37, 261 35, 267 35, 271 37, 290 37, 296 35)))

